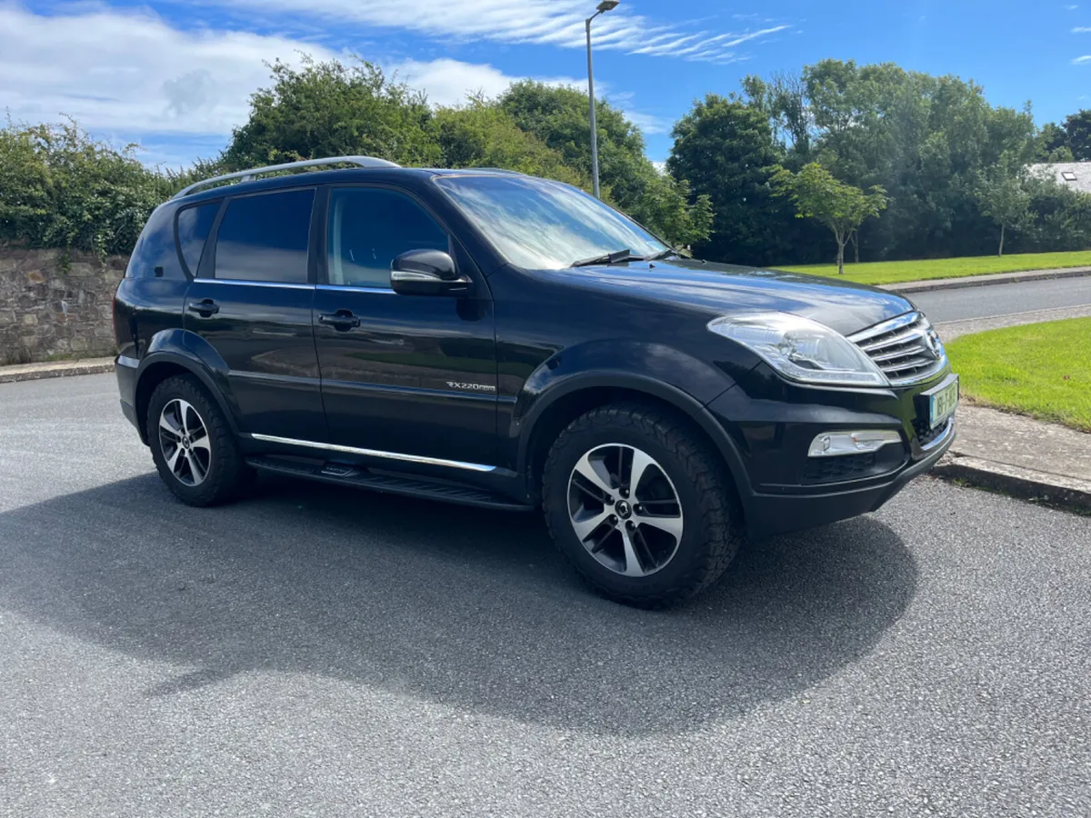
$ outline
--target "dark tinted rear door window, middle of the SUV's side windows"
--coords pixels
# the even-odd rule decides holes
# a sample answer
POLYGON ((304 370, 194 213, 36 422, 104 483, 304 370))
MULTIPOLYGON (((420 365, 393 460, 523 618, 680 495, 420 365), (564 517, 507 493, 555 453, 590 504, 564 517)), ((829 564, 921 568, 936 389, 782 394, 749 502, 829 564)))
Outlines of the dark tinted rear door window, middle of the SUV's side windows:
POLYGON ((216 236, 216 278, 307 282, 313 190, 231 200, 216 236))

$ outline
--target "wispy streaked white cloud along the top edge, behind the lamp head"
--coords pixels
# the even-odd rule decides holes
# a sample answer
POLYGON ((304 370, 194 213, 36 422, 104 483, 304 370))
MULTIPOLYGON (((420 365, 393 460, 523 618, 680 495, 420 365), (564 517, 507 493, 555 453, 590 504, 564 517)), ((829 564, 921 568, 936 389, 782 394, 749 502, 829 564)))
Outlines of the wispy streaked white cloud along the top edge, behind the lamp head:
MULTIPOLYGON (((532 43, 582 48, 589 0, 202 0, 231 11, 240 7, 262 13, 315 17, 360 26, 411 31, 449 40, 532 43)), ((684 60, 730 62, 732 49, 789 28, 778 25, 739 33, 691 31, 658 23, 622 5, 601 15, 594 27, 595 47, 684 60)))

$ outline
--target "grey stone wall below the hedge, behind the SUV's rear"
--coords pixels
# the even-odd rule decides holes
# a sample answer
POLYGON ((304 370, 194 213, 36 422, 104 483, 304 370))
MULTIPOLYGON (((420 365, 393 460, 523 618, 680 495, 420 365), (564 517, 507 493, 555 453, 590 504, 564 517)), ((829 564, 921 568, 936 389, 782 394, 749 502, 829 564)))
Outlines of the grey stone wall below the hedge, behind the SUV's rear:
POLYGON ((128 258, 0 248, 0 365, 110 356, 128 258))

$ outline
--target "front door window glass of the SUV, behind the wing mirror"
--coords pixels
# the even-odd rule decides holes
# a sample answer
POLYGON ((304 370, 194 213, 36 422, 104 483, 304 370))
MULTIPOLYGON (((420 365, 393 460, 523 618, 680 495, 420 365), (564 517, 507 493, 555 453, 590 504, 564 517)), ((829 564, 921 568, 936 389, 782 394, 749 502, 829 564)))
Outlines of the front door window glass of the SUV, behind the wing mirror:
POLYGON ((435 219, 412 199, 384 188, 336 188, 329 194, 329 284, 389 288, 391 262, 410 250, 447 251, 435 219))

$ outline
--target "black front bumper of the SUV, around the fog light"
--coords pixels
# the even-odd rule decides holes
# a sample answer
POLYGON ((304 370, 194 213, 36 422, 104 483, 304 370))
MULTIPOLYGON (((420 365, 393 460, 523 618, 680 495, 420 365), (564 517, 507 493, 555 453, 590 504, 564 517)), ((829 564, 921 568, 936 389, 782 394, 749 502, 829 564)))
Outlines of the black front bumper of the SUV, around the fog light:
POLYGON ((730 440, 730 464, 746 526, 764 537, 874 512, 927 472, 955 440, 955 421, 925 429, 920 396, 950 374, 887 389, 812 388, 755 369, 746 383, 708 405, 730 440), (808 458, 815 435, 848 430, 897 431, 901 444, 854 456, 808 458), (851 468, 831 469, 827 466, 851 468), (818 467, 818 468, 815 468, 818 467))

